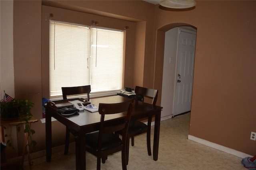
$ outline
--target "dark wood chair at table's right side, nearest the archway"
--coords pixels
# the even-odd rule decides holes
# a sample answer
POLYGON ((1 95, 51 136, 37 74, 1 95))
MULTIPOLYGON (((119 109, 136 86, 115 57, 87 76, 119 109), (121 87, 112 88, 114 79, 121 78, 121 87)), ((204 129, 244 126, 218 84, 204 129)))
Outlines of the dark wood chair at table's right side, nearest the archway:
MULTIPOLYGON (((152 105, 156 105, 156 100, 157 100, 157 96, 158 96, 158 90, 154 90, 154 89, 150 89, 150 88, 144 88, 144 87, 140 87, 140 86, 136 86, 135 88, 135 93, 136 93, 136 97, 135 100, 139 100, 141 99, 141 96, 143 96, 144 101, 146 100, 147 102, 150 102, 150 100, 152 102, 150 102, 150 104, 152 105)), ((142 101, 142 102, 144 102, 142 101)), ((130 138, 132 141, 132 146, 134 146, 134 136, 136 135, 140 135, 142 133, 147 133, 147 149, 148 149, 148 155, 151 155, 151 145, 150 145, 150 133, 151 133, 151 122, 152 122, 152 116, 148 117, 148 124, 146 125, 145 123, 138 121, 138 120, 134 120, 130 122, 129 128, 128 128, 128 133, 127 133, 127 159, 126 159, 126 163, 128 164, 128 158, 129 158, 129 143, 130 143, 130 138)), ((122 132, 119 131, 117 132, 117 134, 121 134, 122 132)))

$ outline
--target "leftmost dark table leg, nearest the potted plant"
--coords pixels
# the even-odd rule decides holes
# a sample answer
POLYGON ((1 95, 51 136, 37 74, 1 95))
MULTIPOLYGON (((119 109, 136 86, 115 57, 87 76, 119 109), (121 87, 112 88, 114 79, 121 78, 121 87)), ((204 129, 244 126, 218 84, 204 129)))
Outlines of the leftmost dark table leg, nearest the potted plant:
POLYGON ((50 111, 46 108, 45 115, 45 134, 46 134, 46 161, 51 162, 52 159, 52 121, 50 111))

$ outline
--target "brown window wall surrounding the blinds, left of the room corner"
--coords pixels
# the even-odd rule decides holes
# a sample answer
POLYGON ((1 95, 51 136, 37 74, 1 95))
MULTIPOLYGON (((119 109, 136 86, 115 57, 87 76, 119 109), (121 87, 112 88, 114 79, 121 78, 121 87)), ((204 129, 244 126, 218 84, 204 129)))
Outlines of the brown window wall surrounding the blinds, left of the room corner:
MULTIPOLYGON (((130 29, 126 31, 124 86, 135 88, 139 84, 152 87, 153 80, 148 81, 147 76, 151 76, 154 63, 148 62, 148 66, 144 64, 144 60, 151 61, 153 57, 150 52, 153 50, 152 47, 145 45, 145 37, 149 36, 147 43, 151 46, 153 44, 151 35, 154 13, 152 11, 154 5, 142 1, 14 1, 15 97, 33 101, 35 103, 32 108, 33 115, 38 119, 42 118, 42 97, 48 98, 49 82, 45 75, 48 72, 46 56, 49 50, 46 43, 48 34, 45 31, 48 25, 45 23, 48 22, 50 13, 54 14, 52 20, 65 18, 66 21, 89 25, 91 20, 94 20, 99 22, 98 26, 116 29, 129 26, 130 29), (145 10, 141 10, 143 8, 145 10), (151 29, 146 30, 146 27, 151 29), (134 68, 134 58, 138 58, 136 60, 138 68, 134 68), (134 76, 134 70, 138 69, 140 71, 134 76)), ((63 145, 64 125, 58 121, 54 121, 52 125, 53 146, 63 145)), ((33 137, 38 143, 37 150, 45 149, 45 124, 38 121, 32 125, 32 128, 36 131, 33 137)))

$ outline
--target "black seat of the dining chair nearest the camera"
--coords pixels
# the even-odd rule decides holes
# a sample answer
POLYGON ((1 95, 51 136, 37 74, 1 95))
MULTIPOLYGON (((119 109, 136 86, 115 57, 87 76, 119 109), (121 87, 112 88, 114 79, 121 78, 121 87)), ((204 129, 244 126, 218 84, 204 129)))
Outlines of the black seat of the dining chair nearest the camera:
MULTIPOLYGON (((86 134, 86 145, 90 146, 94 150, 98 150, 98 137, 98 131, 86 134)), ((102 151, 116 148, 120 145, 122 145, 122 140, 114 135, 114 133, 102 134, 102 151)))

